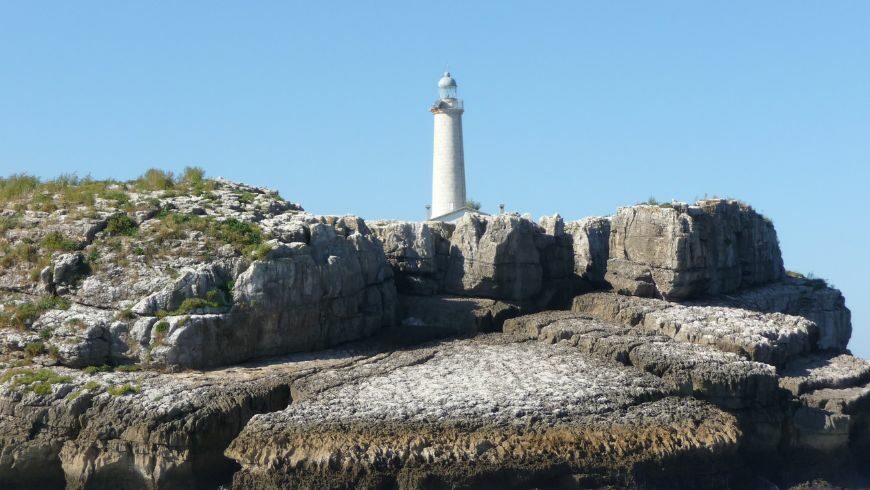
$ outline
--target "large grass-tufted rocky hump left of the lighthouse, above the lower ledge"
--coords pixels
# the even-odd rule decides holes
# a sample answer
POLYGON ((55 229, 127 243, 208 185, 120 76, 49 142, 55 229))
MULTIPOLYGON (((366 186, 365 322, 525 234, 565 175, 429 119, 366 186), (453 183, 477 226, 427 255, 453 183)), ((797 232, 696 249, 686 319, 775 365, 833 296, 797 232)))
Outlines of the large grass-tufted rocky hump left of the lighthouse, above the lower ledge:
POLYGON ((97 220, 25 211, 5 230, 30 254, 21 262, 48 265, 0 268, 0 327, 15 327, 0 328, 0 360, 207 368, 395 323, 392 269, 359 218, 308 214, 226 181, 198 196, 101 185, 113 199, 94 197, 97 220))

